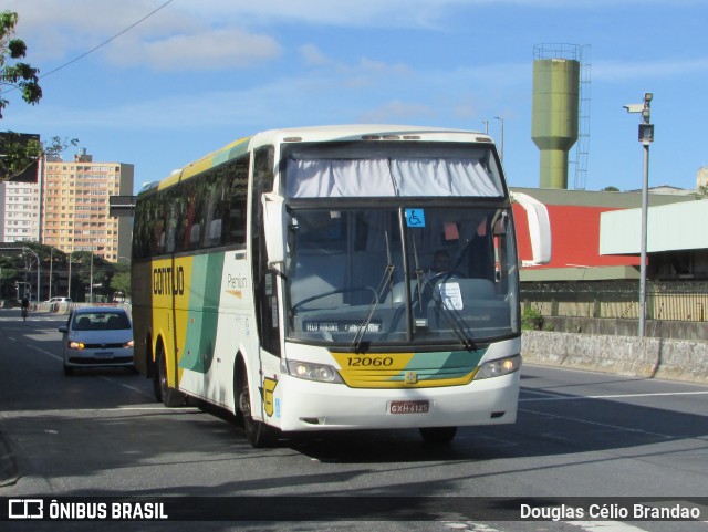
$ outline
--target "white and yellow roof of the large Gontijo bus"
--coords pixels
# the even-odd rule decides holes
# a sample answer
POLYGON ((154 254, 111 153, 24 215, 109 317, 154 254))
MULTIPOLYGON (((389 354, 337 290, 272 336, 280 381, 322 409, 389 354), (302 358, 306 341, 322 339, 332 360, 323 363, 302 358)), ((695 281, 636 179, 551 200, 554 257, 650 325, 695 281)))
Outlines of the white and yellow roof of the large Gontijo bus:
POLYGON ((205 170, 208 170, 209 168, 214 168, 228 160, 240 157, 250 149, 259 146, 296 142, 337 140, 492 143, 491 137, 483 133, 430 126, 353 124, 269 129, 249 137, 239 138, 238 140, 235 140, 231 144, 228 144, 227 146, 173 171, 171 175, 164 178, 162 181, 146 184, 140 190, 140 194, 146 194, 155 189, 164 189, 185 179, 189 179, 205 170))

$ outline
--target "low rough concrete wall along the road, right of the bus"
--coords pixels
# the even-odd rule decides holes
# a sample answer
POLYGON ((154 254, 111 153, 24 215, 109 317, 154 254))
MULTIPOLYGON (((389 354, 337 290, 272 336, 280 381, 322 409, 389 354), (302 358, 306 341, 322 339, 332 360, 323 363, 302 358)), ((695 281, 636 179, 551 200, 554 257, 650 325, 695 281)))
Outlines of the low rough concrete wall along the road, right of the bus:
POLYGON ((708 342, 523 331, 524 362, 708 384, 708 342))

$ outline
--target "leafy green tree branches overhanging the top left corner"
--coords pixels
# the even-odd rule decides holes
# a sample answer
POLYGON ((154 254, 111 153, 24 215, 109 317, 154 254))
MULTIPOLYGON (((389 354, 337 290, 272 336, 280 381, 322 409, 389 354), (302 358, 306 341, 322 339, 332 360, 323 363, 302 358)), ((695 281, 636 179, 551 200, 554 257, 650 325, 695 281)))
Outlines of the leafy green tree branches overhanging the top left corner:
MULTIPOLYGON (((21 39, 13 39, 17 24, 18 13, 0 13, 0 119, 10 103, 6 97, 8 93, 20 91, 22 100, 30 105, 37 105, 42 98, 40 71, 18 61, 27 55, 27 44, 21 39)), ((8 132, 0 139, 0 181, 19 176, 42 157, 56 156, 69 146, 77 144, 75 138, 52 137, 51 143, 44 146, 38 139, 23 140, 19 134, 8 132)))

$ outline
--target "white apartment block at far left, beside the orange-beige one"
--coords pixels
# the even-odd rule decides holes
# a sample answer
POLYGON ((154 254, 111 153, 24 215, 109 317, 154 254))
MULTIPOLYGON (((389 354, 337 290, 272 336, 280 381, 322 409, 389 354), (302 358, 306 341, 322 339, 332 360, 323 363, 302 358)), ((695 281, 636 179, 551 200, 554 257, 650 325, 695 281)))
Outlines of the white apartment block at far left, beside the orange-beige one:
POLYGON ((40 240, 40 185, 0 184, 0 241, 40 240))

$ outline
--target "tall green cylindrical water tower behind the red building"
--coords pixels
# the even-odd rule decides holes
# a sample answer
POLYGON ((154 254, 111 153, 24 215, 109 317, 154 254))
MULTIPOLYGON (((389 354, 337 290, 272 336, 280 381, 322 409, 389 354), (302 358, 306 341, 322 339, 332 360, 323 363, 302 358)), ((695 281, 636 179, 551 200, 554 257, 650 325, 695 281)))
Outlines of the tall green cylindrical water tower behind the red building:
POLYGON ((577 140, 581 63, 573 45, 537 45, 531 138, 541 150, 541 188, 568 188, 568 153, 577 140))

